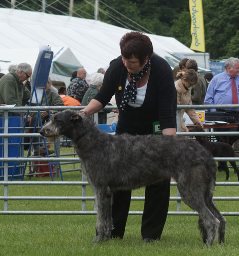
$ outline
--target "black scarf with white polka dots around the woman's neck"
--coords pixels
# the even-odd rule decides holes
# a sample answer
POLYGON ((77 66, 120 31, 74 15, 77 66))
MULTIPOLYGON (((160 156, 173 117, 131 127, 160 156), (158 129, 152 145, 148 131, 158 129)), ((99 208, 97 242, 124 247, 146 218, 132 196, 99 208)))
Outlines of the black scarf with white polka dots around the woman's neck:
POLYGON ((132 104, 135 103, 136 97, 137 97, 137 87, 136 82, 141 79, 147 72, 150 66, 151 58, 148 60, 147 64, 144 66, 144 68, 137 74, 128 73, 130 75, 130 78, 132 78, 127 85, 127 87, 124 90, 124 94, 121 100, 120 109, 122 111, 125 111, 126 104, 131 101, 132 104))

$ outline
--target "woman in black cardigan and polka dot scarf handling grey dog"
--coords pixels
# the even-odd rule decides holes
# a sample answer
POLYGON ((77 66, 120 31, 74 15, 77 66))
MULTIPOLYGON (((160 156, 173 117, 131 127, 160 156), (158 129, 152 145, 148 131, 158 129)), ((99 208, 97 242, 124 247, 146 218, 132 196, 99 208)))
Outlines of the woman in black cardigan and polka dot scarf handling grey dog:
MULTIPOLYGON (((115 94, 119 108, 116 135, 153 134, 159 127, 155 123, 158 121, 163 135, 176 135, 177 94, 171 67, 153 54, 150 38, 142 33, 126 33, 120 40, 120 50, 121 56, 110 62, 100 91, 82 112, 92 115, 100 111, 115 94)), ((161 237, 169 193, 169 179, 146 187, 142 240, 152 242, 161 237)), ((130 198, 131 191, 113 195, 112 237, 123 238, 130 198)))

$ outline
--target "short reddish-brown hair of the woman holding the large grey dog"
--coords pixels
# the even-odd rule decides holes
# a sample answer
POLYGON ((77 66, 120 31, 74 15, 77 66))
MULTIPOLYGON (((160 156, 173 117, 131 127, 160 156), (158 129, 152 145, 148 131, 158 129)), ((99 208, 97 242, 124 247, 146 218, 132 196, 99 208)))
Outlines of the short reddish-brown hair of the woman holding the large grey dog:
POLYGON ((140 60, 140 64, 143 65, 147 56, 152 57, 153 47, 150 38, 140 32, 126 33, 120 39, 121 55, 130 59, 132 56, 140 60))

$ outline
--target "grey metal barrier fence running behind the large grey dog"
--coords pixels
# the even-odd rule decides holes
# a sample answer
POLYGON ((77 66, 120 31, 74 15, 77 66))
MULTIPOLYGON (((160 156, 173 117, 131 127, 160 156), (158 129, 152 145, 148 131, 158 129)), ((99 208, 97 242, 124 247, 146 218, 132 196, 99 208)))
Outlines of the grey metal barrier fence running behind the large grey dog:
MULTIPOLYGON (((179 105, 177 110, 177 117, 180 116, 181 109, 206 109, 206 108, 239 108, 239 105, 179 105)), ((8 111, 19 111, 26 112, 31 109, 31 111, 46 111, 46 110, 65 110, 65 109, 75 109, 80 110, 83 109, 84 106, 77 107, 14 107, 14 108, 4 108, 5 118, 8 118, 8 111)), ((106 109, 116 109, 116 106, 108 106, 106 109)), ((98 120, 97 115, 96 120, 98 120)), ((177 118, 177 127, 180 127, 180 118, 177 118)), ((7 122, 8 124, 8 122, 7 122)), ((4 148, 7 149, 7 138, 8 137, 41 137, 40 134, 10 134, 8 133, 8 126, 2 128, 4 129, 4 133, 0 134, 0 137, 4 138, 4 148)), ((180 130, 180 129, 179 129, 180 130)), ((239 135, 239 132, 204 132, 204 133, 181 133, 178 132, 177 135, 239 135)), ((7 151, 7 150, 6 150, 7 151)), ((217 157, 216 161, 239 161, 239 157, 217 157)), ((4 163, 4 170, 7 170, 7 162, 64 162, 64 163, 76 163, 80 162, 78 157, 0 157, 0 162, 4 163)), ((67 170, 74 171, 74 170, 67 170)), ((4 187, 4 196, 0 196, 0 200, 4 202, 4 211, 0 211, 0 215, 95 215, 97 211, 86 211, 86 201, 95 200, 94 196, 86 196, 86 186, 88 186, 88 182, 84 181, 7 181, 7 176, 5 176, 4 172, 4 181, 0 181, 0 185, 4 187), (8 186, 17 186, 17 185, 27 185, 27 186, 82 186, 82 196, 8 196, 8 186), (82 211, 8 211, 8 201, 9 200, 81 200, 82 201, 82 211)), ((171 186, 176 186, 176 182, 171 182, 171 186)), ((239 182, 216 182, 216 186, 239 186, 239 182)), ((223 200, 223 201, 239 201, 239 197, 213 197, 214 200, 223 200)), ((144 200, 144 197, 131 197, 131 200, 144 200)), ((177 202, 177 211, 168 211, 168 215, 198 215, 195 211, 181 211, 181 197, 177 191, 176 197, 170 197, 171 201, 177 202)), ((142 215, 142 211, 130 211, 129 215, 142 215)), ((239 212, 221 212, 223 215, 228 216, 239 216, 239 212)))

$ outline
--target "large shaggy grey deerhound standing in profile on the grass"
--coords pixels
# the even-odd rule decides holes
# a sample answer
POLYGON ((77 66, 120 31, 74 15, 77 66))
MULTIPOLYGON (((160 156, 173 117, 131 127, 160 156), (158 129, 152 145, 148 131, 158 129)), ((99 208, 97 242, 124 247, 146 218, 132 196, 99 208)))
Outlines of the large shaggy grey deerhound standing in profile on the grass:
POLYGON ((40 131, 50 141, 60 135, 75 145, 98 202, 98 242, 109 240, 112 194, 137 189, 173 177, 184 202, 199 213, 203 242, 224 243, 226 219, 213 202, 216 165, 194 140, 163 135, 111 135, 79 112, 66 110, 53 116, 40 131))

